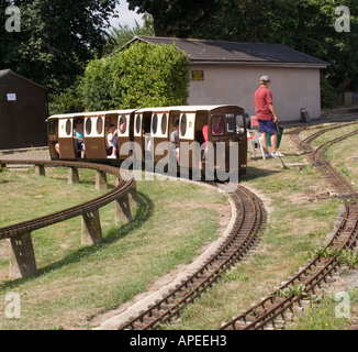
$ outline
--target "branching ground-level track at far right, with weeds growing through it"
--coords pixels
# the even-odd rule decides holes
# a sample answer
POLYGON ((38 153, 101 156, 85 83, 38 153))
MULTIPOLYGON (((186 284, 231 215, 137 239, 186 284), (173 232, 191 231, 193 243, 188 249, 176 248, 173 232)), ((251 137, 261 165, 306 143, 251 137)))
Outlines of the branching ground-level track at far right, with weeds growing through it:
MULTIPOLYGON (((347 125, 347 124, 345 124, 347 125)), ((344 125, 339 125, 344 127, 344 125)), ((322 133, 333 130, 337 127, 320 131, 304 141, 301 141, 299 133, 303 131, 302 128, 294 130, 291 135, 297 145, 309 156, 311 162, 318 168, 318 170, 327 177, 327 180, 335 188, 337 195, 345 200, 345 213, 343 220, 334 233, 332 240, 326 249, 336 250, 335 255, 331 257, 315 257, 309 265, 301 270, 294 277, 276 290, 272 295, 265 298, 261 302, 253 306, 244 314, 235 317, 230 322, 225 322, 220 327, 220 330, 259 330, 259 329, 275 329, 282 328, 287 319, 287 314, 293 309, 294 305, 302 304, 302 294, 315 293, 320 285, 332 276, 337 270, 338 254, 343 250, 351 249, 357 242, 358 237, 358 206, 357 191, 353 188, 350 183, 327 162, 323 154, 324 151, 332 144, 337 143, 346 138, 353 136, 358 131, 339 136, 321 145, 314 150, 310 143, 322 133), (353 199, 354 201, 347 201, 353 199), (280 295, 284 289, 292 289, 303 285, 304 289, 301 295, 293 293, 289 297, 280 295), (281 296, 281 297, 280 297, 281 296)))

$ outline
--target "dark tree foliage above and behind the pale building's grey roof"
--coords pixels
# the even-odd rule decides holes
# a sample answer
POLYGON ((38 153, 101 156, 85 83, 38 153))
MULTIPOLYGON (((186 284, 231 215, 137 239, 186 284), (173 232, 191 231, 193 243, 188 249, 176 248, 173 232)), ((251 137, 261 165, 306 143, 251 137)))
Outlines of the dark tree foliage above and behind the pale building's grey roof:
POLYGON ((128 0, 153 15, 156 35, 286 44, 328 62, 337 86, 358 70, 358 1, 128 0), (350 10, 350 32, 337 32, 335 10, 350 10))

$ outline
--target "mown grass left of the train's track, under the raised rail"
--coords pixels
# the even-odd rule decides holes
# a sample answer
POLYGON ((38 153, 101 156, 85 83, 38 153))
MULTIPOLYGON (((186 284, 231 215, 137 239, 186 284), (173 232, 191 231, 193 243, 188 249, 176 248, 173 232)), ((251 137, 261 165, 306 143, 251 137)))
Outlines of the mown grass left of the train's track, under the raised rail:
MULTIPOLYGON (((41 178, 31 173, 0 174, 1 226, 58 211, 103 193, 93 189, 90 172, 81 172, 82 183, 77 186, 67 185, 66 169, 46 174, 41 178)), ((139 207, 133 209, 133 222, 115 227, 113 204, 100 210, 101 244, 80 244, 79 217, 34 231, 40 273, 33 278, 7 277, 9 244, 2 242, 0 328, 90 328, 94 315, 120 306, 146 290, 156 277, 198 256, 203 243, 217 238, 217 218, 231 208, 226 195, 187 183, 138 182, 137 191, 139 207), (20 294, 20 319, 4 316, 9 292, 20 294)))

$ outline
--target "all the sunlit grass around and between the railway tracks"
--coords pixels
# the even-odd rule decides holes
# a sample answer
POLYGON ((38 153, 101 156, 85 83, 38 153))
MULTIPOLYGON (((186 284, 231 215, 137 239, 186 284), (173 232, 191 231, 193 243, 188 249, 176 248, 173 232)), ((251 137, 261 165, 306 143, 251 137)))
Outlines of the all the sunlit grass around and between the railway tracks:
MULTIPOLYGON (((355 128, 325 133, 314 145, 355 128)), ((303 136, 320 129, 311 127, 303 136)), ((358 136, 354 136, 327 151, 329 161, 356 187, 357 141, 358 136)), ((283 134, 280 151, 286 154, 286 164, 307 163, 289 135, 283 134)), ((80 175, 79 187, 67 185, 66 169, 46 170, 46 175, 38 179, 32 173, 0 174, 1 226, 31 219, 38 215, 38 209, 41 213, 49 213, 100 194, 93 190, 94 177, 90 172, 80 175)), ((277 158, 249 158, 247 175, 240 183, 257 193, 268 212, 259 246, 189 306, 179 322, 163 329, 219 328, 223 321, 271 294, 326 243, 340 200, 317 200, 316 196, 325 195, 329 185, 315 168, 307 165, 302 169, 294 166, 283 169, 277 158)), ((1 244, 1 329, 91 328, 91 317, 118 307, 146 290, 156 277, 194 258, 205 242, 217 238, 219 223, 231 211, 227 196, 192 184, 144 180, 138 182, 137 190, 139 207, 133 209, 132 223, 114 227, 113 205, 100 211, 102 244, 80 245, 80 218, 35 231, 33 241, 40 275, 34 278, 7 278, 8 244, 1 244), (20 294, 20 319, 4 317, 9 304, 5 295, 11 292, 20 294)), ((349 294, 353 302, 356 301, 357 293, 349 294)), ((345 329, 347 321, 334 315, 336 305, 329 297, 317 302, 306 312, 310 316, 303 315, 290 329, 345 329)))

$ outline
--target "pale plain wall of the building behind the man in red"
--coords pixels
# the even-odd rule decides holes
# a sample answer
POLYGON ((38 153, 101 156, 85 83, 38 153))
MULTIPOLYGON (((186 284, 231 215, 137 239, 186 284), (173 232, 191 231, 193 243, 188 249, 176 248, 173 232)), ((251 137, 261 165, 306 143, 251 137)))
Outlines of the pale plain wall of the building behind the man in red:
MULTIPOLYGON (((259 86, 260 76, 269 75, 273 106, 280 121, 300 121, 301 108, 305 108, 311 119, 321 116, 318 68, 193 64, 192 70, 202 70, 203 80, 191 80, 189 105, 236 105, 243 107, 248 114, 256 114, 254 92, 259 86)), ((198 73, 197 78, 200 79, 198 73)))

